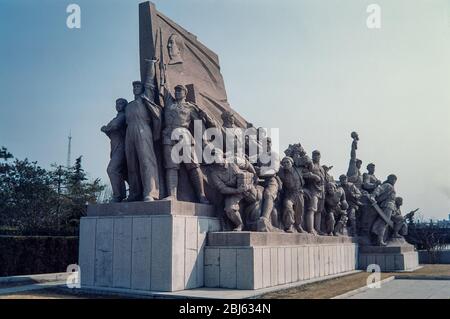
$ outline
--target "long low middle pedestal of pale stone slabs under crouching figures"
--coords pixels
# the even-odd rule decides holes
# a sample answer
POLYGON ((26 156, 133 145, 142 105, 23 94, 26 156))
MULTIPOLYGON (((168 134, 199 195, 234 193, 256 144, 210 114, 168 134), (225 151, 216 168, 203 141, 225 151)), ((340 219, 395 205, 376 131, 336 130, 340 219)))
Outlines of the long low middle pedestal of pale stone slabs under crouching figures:
POLYGON ((260 289, 357 269, 351 237, 217 232, 208 234, 205 286, 260 289))

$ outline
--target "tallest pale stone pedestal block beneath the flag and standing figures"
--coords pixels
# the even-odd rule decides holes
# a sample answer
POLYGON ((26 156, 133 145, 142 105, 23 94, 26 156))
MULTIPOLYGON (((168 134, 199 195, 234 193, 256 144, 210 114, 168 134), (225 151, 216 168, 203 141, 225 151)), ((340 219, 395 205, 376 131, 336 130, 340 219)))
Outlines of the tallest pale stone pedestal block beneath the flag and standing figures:
POLYGON ((155 201, 88 207, 80 224, 84 288, 177 291, 204 286, 206 235, 220 230, 211 205, 155 201))

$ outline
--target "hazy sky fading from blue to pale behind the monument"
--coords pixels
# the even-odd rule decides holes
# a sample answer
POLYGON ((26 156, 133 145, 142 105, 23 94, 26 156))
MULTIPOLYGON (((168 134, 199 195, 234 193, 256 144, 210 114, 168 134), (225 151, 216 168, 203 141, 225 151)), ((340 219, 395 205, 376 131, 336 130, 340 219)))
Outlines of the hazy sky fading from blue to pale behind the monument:
MULTIPOLYGON (((0 145, 47 167, 72 158, 105 182, 99 128, 139 78, 135 0, 0 0, 0 145), (66 7, 81 7, 81 29, 66 7)), ((406 213, 450 213, 448 0, 166 0, 157 8, 219 54, 228 98, 281 146, 319 149, 338 177, 350 132, 376 175, 397 174, 406 213), (366 27, 381 6, 381 29, 366 27)))

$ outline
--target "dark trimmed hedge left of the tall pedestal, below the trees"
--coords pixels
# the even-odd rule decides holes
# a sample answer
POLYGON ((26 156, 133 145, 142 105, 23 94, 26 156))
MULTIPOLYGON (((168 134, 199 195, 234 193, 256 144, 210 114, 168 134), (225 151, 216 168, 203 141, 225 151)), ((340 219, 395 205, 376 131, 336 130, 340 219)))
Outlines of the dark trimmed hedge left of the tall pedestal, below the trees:
POLYGON ((78 237, 0 236, 0 277, 65 272, 78 263, 78 237))

